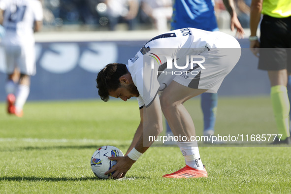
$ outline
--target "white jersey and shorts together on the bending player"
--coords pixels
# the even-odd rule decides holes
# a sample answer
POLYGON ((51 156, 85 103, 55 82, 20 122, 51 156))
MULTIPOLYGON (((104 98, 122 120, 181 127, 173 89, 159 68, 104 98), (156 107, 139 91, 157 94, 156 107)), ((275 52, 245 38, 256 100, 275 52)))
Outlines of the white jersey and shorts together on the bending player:
POLYGON ((139 107, 147 107, 173 80, 216 93, 239 57, 240 45, 234 37, 186 28, 152 38, 127 67, 140 95, 139 107))

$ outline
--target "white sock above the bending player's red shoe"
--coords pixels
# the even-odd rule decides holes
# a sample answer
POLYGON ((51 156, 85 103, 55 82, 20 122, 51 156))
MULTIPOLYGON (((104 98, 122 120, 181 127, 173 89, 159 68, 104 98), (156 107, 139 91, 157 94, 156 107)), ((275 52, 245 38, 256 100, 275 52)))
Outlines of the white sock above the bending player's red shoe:
POLYGON ((197 144, 189 142, 177 142, 183 156, 185 157, 185 162, 192 168, 202 170, 204 168, 203 163, 200 159, 199 149, 197 144))

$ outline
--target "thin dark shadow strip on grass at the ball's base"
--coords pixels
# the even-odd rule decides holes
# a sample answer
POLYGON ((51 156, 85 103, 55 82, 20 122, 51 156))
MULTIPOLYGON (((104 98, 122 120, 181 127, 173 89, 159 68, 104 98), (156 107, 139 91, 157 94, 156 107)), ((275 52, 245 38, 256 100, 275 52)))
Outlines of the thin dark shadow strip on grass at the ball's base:
POLYGON ((124 177, 122 179, 99 179, 97 177, 35 177, 35 176, 11 176, 0 177, 0 181, 30 181, 30 182, 59 182, 59 181, 125 181, 135 179, 146 179, 145 177, 124 177))

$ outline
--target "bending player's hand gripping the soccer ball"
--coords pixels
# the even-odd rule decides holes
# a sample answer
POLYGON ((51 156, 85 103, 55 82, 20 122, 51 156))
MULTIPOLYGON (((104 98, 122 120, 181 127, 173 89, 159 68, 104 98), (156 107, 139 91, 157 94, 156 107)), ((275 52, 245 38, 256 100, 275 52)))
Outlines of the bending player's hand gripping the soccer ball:
POLYGON ((132 164, 135 162, 131 160, 128 156, 108 157, 108 159, 112 161, 117 161, 117 164, 115 166, 105 172, 105 175, 114 172, 114 174, 112 174, 112 178, 114 179, 123 178, 132 166, 132 164))

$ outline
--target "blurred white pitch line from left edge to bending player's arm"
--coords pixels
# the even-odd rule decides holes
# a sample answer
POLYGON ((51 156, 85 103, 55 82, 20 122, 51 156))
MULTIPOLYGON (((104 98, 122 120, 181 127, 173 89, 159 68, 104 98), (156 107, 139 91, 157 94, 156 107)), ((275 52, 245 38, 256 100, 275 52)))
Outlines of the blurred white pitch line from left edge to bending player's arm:
POLYGON ((54 143, 97 143, 97 144, 129 144, 130 140, 105 139, 39 139, 39 138, 0 138, 0 142, 54 142, 54 143))

